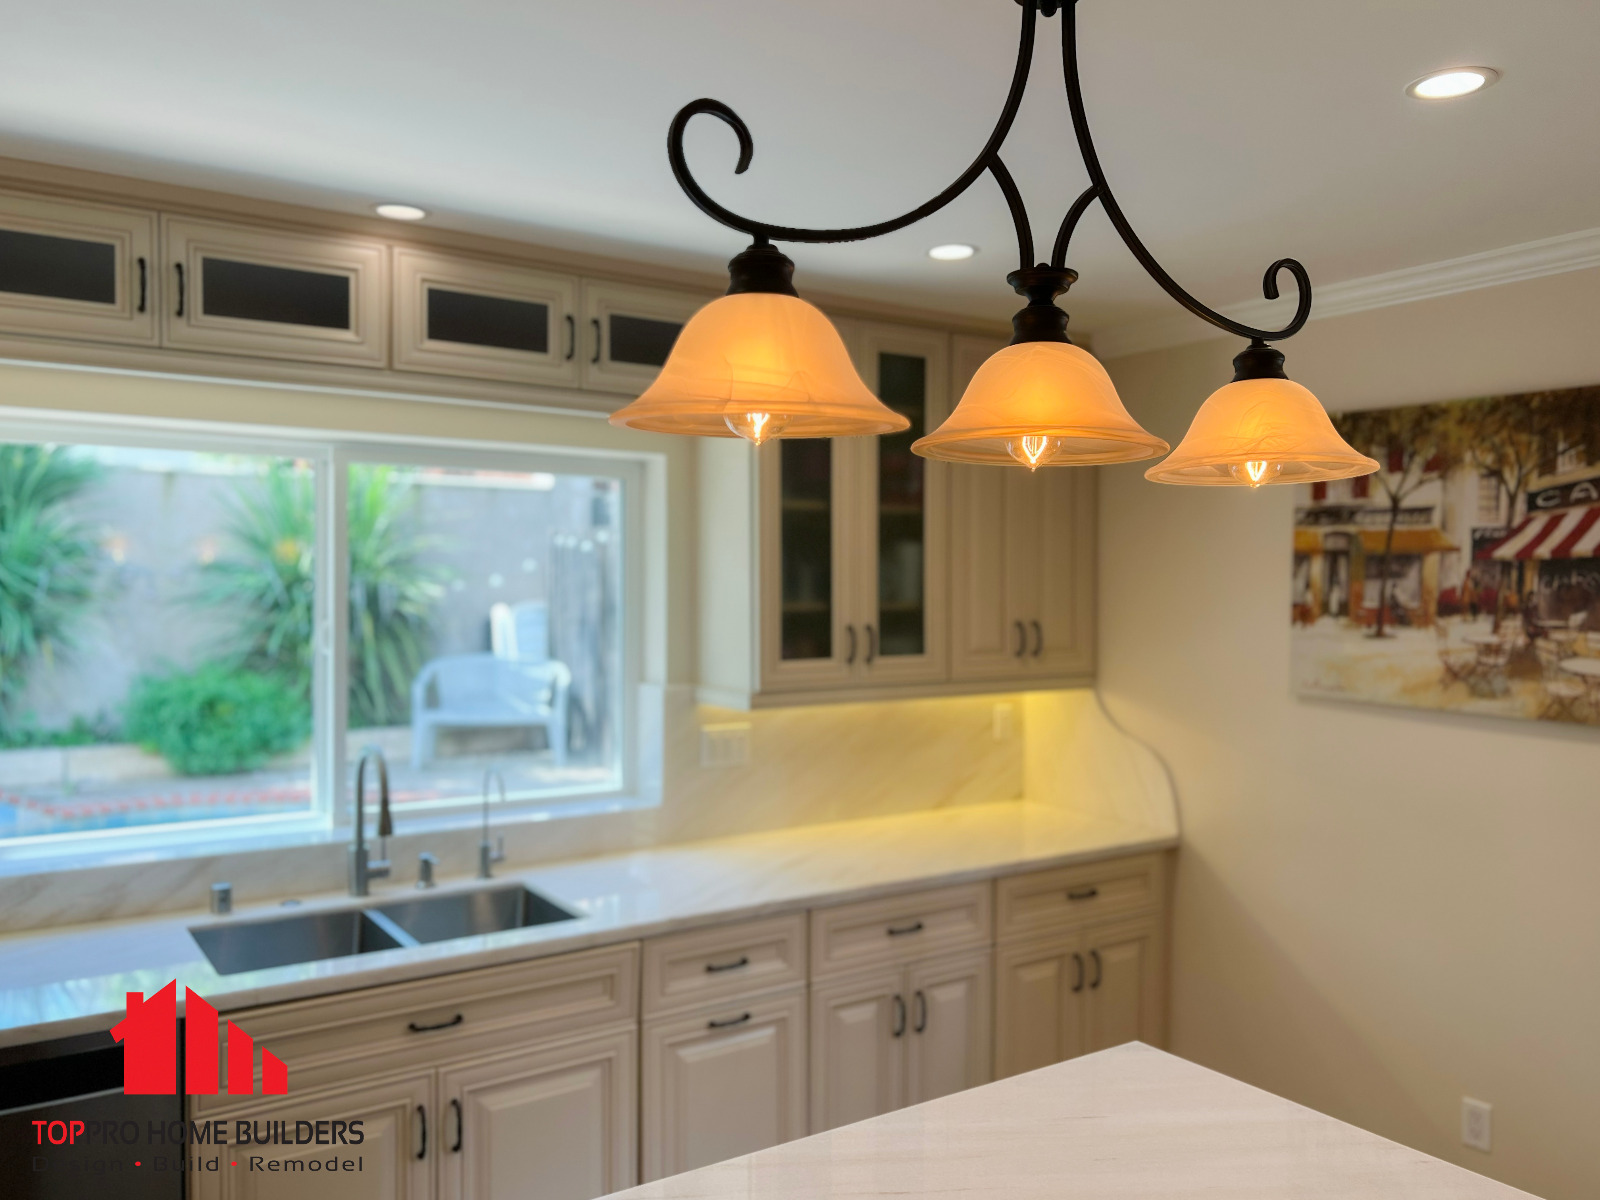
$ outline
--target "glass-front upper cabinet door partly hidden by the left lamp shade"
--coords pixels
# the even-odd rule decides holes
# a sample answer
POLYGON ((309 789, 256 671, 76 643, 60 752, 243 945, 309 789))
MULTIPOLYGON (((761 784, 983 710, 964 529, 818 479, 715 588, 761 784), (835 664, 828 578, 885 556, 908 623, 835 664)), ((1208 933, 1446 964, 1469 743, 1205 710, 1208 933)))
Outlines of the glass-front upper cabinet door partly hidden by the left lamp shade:
POLYGON ((584 280, 581 317, 582 386, 592 392, 638 395, 667 362, 678 330, 710 294, 584 280))

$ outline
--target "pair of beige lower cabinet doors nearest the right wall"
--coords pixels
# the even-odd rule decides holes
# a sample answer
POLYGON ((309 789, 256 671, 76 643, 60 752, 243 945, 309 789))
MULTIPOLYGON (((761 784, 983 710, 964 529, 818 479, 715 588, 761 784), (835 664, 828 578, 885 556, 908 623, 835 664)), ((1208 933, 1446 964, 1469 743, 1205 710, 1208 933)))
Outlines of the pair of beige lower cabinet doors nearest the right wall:
POLYGON ((1035 936, 995 950, 995 1077, 1123 1042, 1163 1040, 1155 915, 1035 936))

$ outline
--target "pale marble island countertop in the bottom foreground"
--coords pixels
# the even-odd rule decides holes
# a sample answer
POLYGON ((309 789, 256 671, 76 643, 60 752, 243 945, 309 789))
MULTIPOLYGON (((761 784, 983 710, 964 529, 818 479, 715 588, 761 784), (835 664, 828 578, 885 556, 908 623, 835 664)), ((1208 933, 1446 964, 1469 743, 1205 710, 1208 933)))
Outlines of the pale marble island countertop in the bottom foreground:
POLYGON ((1139 1043, 614 1200, 1514 1200, 1528 1194, 1139 1043))

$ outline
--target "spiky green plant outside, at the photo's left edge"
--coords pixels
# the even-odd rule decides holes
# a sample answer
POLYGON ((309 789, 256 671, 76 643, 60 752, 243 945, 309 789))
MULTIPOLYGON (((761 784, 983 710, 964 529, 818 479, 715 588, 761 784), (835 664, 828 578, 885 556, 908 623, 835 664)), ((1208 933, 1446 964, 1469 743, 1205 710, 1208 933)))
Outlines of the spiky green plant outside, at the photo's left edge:
POLYGON ((0 445, 0 714, 94 600, 99 546, 67 504, 96 475, 62 446, 0 445))

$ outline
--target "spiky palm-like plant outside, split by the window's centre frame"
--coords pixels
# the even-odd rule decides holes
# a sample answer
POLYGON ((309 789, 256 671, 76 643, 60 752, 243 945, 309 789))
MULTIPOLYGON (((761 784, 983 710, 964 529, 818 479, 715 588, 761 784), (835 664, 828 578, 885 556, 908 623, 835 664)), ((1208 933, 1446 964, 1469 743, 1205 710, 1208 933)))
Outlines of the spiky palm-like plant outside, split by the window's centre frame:
MULTIPOLYGON (((422 562, 427 538, 416 496, 390 467, 354 466, 349 478, 349 722, 390 725, 408 710, 411 680, 427 658, 438 571, 422 562)), ((317 504, 309 474, 270 470, 230 506, 235 554, 208 563, 200 598, 232 610, 243 666, 310 690, 317 504)))

